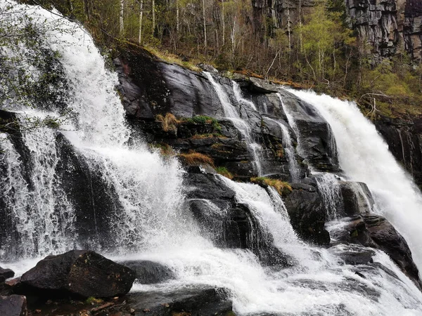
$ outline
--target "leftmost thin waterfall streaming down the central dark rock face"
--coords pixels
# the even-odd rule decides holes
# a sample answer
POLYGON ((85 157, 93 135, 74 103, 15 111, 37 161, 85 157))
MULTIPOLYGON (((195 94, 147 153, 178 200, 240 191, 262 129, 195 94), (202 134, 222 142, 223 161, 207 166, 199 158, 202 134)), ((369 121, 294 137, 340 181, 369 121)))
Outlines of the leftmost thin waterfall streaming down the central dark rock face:
POLYGON ((258 176, 262 176, 262 146, 253 140, 252 130, 248 122, 240 117, 238 110, 231 104, 230 98, 224 91, 222 85, 215 81, 210 72, 204 72, 204 74, 211 82, 215 92, 217 93, 219 101, 222 104, 224 114, 226 115, 226 119, 229 119, 234 124, 234 127, 241 132, 246 145, 248 145, 248 150, 250 154, 252 154, 253 163, 255 164, 258 176))

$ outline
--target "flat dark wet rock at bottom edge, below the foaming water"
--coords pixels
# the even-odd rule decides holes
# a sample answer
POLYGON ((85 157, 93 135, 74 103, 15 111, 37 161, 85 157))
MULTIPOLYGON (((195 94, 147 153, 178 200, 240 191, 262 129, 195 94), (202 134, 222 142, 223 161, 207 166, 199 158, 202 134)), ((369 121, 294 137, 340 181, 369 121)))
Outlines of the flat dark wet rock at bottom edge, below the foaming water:
POLYGON ((98 315, 191 315, 226 316, 232 312, 232 303, 224 289, 191 288, 172 292, 129 294, 127 303, 103 310, 98 315), (119 314, 120 313, 120 314, 119 314))

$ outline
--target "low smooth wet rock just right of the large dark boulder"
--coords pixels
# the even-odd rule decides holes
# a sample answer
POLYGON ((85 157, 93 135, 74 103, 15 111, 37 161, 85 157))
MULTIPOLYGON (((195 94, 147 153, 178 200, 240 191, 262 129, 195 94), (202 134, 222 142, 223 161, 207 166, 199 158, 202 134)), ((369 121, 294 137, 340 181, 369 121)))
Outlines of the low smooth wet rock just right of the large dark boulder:
POLYGON ((174 273, 165 265, 153 261, 119 262, 136 273, 136 280, 141 284, 154 284, 174 279, 174 273))

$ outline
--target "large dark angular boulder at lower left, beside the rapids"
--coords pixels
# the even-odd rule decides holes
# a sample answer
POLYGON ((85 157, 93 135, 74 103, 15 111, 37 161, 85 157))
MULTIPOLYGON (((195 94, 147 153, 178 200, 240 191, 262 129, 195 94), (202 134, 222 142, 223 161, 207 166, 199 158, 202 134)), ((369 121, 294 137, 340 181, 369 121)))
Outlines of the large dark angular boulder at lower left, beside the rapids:
POLYGON ((20 294, 106 298, 132 288, 135 272, 94 251, 72 250, 39 261, 20 279, 20 294))

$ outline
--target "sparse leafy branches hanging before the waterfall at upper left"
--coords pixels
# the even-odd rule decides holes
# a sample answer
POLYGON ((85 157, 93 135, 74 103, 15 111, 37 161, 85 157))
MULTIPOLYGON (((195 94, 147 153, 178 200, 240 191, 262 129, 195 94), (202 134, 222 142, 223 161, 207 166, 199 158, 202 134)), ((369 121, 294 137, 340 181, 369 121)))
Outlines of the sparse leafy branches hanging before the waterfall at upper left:
POLYGON ((56 115, 0 121, 2 131, 58 129, 74 116, 60 53, 46 43, 56 32, 71 32, 63 21, 40 23, 10 3, 0 8, 0 108, 49 110, 56 115))

